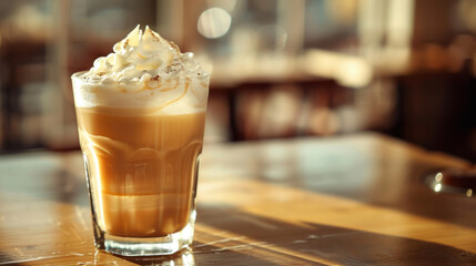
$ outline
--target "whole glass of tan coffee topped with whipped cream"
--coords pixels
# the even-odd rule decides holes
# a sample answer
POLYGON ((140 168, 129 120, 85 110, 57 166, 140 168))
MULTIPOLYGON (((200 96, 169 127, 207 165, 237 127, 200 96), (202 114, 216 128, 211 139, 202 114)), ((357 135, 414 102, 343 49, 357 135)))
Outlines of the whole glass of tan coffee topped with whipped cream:
POLYGON ((95 246, 124 256, 192 243, 210 75, 138 25, 72 75, 95 246))

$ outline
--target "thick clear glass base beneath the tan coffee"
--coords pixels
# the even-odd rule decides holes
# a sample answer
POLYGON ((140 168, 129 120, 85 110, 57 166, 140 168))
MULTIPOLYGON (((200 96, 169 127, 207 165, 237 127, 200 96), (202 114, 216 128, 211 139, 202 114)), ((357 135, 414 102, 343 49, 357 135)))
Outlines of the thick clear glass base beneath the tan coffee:
POLYGON ((124 237, 102 232, 94 226, 94 245, 99 249, 121 256, 156 256, 174 254, 193 242, 195 212, 186 226, 176 233, 159 237, 124 237))

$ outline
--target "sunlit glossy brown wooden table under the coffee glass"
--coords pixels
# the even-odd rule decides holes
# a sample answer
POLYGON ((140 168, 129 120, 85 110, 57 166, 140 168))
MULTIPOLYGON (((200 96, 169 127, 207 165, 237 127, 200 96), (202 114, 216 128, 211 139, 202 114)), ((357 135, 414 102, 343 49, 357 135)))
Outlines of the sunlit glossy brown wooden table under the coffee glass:
POLYGON ((204 149, 190 250, 93 247, 79 152, 0 157, 0 265, 476 265, 476 202, 424 172, 468 162, 383 135, 204 149))

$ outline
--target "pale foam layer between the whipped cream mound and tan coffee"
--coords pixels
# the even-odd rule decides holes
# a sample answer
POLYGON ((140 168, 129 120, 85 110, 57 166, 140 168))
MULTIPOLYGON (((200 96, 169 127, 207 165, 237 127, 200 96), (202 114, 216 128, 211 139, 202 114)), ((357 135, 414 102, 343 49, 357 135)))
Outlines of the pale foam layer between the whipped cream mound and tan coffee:
POLYGON ((78 108, 141 109, 166 114, 206 110, 209 79, 99 83, 85 80, 82 74, 72 76, 78 108))

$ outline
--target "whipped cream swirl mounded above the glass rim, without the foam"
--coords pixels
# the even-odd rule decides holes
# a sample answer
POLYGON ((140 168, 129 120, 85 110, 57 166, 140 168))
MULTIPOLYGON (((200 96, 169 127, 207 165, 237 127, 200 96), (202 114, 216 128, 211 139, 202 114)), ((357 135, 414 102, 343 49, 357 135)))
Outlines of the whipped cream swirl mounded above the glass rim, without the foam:
POLYGON ((149 25, 144 32, 136 25, 125 39, 113 47, 113 53, 100 57, 83 76, 93 81, 121 82, 173 80, 207 75, 193 53, 181 53, 179 47, 149 25))

